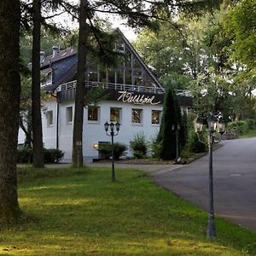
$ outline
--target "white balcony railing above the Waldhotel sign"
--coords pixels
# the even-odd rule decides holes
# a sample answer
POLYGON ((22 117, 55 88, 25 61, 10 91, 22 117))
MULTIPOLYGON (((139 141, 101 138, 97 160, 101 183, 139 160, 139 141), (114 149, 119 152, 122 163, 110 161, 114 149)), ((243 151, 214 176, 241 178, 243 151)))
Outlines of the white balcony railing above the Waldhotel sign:
MULTIPOLYGON (((56 89, 57 91, 63 91, 63 90, 71 90, 75 89, 77 86, 77 81, 71 81, 66 84, 61 84, 56 89)), ((159 87, 146 87, 146 86, 138 86, 138 85, 131 85, 131 84, 114 84, 114 83, 102 83, 102 82, 89 82, 85 84, 86 87, 89 88, 96 88, 100 87, 104 90, 129 90, 129 91, 137 91, 137 92, 149 92, 149 93, 157 93, 157 94, 163 94, 165 93, 165 89, 159 88, 159 87)), ((191 96, 191 93, 189 90, 175 90, 177 96, 191 96)))

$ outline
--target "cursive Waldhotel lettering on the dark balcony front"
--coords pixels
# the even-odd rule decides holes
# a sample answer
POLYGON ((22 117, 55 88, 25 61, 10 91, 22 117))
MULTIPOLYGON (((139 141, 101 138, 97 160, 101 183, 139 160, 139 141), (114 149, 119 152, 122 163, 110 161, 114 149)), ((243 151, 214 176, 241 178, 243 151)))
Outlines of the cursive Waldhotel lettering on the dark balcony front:
POLYGON ((160 102, 154 102, 154 96, 145 96, 140 94, 135 94, 134 92, 127 90, 119 90, 119 98, 117 101, 121 102, 129 102, 138 105, 150 104, 150 105, 158 105, 160 102))

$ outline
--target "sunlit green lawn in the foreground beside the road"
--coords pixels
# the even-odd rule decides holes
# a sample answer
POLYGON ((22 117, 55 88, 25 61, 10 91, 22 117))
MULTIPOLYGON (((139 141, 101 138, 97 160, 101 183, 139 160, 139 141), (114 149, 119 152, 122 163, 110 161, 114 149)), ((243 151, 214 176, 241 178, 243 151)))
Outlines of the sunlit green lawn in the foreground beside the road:
POLYGON ((143 172, 20 168, 29 218, 2 229, 0 255, 256 255, 256 233, 217 219, 157 187, 143 172))

